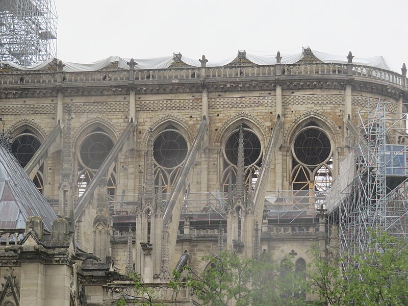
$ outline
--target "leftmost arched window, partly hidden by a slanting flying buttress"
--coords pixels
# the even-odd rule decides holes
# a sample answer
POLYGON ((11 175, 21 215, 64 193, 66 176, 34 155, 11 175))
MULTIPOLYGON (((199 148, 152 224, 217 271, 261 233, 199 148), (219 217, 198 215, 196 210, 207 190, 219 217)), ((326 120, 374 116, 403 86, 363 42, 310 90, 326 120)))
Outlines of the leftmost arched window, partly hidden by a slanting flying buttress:
MULTIPOLYGON (((41 141, 37 135, 30 129, 24 129, 21 133, 14 137, 13 143, 11 144, 11 150, 18 163, 24 168, 33 158, 40 146, 41 141)), ((44 190, 43 172, 44 164, 40 166, 33 179, 34 185, 41 193, 44 190)))

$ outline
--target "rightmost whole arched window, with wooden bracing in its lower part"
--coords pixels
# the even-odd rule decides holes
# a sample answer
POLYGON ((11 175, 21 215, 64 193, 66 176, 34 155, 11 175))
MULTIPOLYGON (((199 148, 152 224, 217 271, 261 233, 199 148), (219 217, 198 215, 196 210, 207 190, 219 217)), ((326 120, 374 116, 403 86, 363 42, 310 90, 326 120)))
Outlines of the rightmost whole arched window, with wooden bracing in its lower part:
POLYGON ((326 191, 333 183, 333 146, 315 121, 305 124, 292 145, 292 188, 297 195, 326 191), (304 192, 303 192, 304 191, 304 192))

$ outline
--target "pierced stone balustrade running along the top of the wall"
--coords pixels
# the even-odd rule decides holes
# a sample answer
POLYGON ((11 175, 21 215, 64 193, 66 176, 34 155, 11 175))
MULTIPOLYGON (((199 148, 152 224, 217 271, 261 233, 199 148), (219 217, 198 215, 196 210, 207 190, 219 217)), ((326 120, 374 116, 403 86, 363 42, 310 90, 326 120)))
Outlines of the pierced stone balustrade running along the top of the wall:
MULTIPOLYGON (((205 76, 202 69, 197 67, 170 67, 166 69, 145 69, 134 70, 135 80, 130 80, 128 70, 99 70, 88 72, 62 72, 62 82, 66 84, 90 83, 90 82, 143 82, 154 81, 177 81, 207 79, 240 79, 253 77, 275 77, 279 75, 285 79, 289 75, 354 75, 368 79, 376 79, 392 83, 398 86, 403 85, 401 74, 385 69, 351 64, 338 63, 298 63, 298 64, 276 64, 276 65, 243 65, 243 66, 222 66, 206 67, 205 76), (350 72, 351 71, 351 72, 350 72), (350 74, 349 74, 350 73, 350 74)), ((10 71, 0 69, 0 85, 21 85, 21 84, 48 84, 58 82, 58 72, 47 70, 36 71, 10 71)), ((406 84, 406 82, 404 82, 406 84)))

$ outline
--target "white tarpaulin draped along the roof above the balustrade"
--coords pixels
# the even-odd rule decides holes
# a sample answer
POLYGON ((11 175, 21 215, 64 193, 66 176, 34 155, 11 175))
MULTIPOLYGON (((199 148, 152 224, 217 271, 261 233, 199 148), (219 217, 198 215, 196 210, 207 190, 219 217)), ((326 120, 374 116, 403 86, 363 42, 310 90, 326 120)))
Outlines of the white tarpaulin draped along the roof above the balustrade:
MULTIPOLYGON (((347 58, 346 56, 339 56, 339 55, 331 55, 323 52, 319 52, 317 50, 312 50, 313 55, 322 61, 323 63, 337 63, 337 64, 345 64, 347 63, 347 58)), ((222 61, 208 61, 207 67, 220 67, 220 66, 225 66, 234 61, 237 58, 238 55, 235 55, 234 57, 222 60, 222 61)), ((251 54, 251 53, 246 53, 246 58, 251 61, 252 63, 256 65, 275 65, 276 64, 276 58, 275 54, 273 55, 268 55, 268 54, 262 54, 262 55, 257 55, 257 54, 251 54)), ((297 53, 297 54, 283 54, 281 64, 294 64, 300 61, 303 58, 302 53, 297 53)), ((11 63, 9 61, 0 61, 0 64, 3 66, 4 64, 10 65, 11 67, 14 67, 18 70, 41 70, 46 68, 48 64, 53 62, 54 59, 48 59, 45 62, 24 67, 20 66, 18 64, 11 63)), ((109 65, 111 65, 114 62, 118 63, 118 67, 121 69, 127 69, 129 70, 129 65, 127 64, 130 62, 131 59, 129 58, 121 58, 118 56, 110 56, 106 59, 96 61, 93 63, 89 64, 80 64, 80 63, 71 63, 71 62, 63 62, 65 65, 63 68, 63 71, 65 72, 75 72, 75 71, 96 71, 103 69, 109 65)), ((135 69, 164 69, 168 68, 173 62, 174 59, 172 56, 168 57, 160 57, 160 58, 150 58, 150 59, 134 59, 135 62, 137 63, 135 66, 135 69)), ((57 60, 59 61, 59 60, 57 60)), ((197 59, 192 59, 188 58, 185 56, 182 56, 182 61, 190 66, 193 67, 201 67, 200 61, 197 59)), ((391 70, 390 67, 387 65, 385 59, 382 56, 374 56, 370 58, 356 58, 354 57, 353 59, 353 64, 359 64, 359 65, 366 65, 370 67, 376 67, 380 69, 386 69, 386 70, 391 70)))

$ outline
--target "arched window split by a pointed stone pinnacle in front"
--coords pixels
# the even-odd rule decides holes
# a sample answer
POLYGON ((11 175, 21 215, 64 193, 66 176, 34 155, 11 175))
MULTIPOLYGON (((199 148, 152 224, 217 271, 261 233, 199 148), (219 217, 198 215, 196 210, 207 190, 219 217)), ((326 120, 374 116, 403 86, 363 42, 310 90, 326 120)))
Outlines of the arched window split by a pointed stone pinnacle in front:
MULTIPOLYGON (((246 124, 242 123, 244 138, 244 167, 245 184, 254 188, 257 183, 262 165, 262 145, 256 133, 246 124), (251 178, 250 178, 251 177, 251 178)), ((232 175, 232 182, 235 184, 238 164, 238 141, 239 125, 228 134, 223 148, 223 174, 222 189, 228 191, 228 182, 232 175)))

